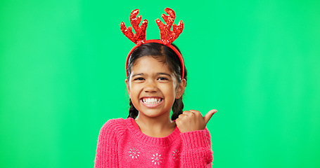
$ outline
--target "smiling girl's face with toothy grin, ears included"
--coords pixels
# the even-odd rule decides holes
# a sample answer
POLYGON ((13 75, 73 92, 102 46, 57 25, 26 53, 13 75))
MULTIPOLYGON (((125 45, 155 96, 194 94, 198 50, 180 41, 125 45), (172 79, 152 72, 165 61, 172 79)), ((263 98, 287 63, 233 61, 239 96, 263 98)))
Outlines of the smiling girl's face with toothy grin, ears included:
POLYGON ((174 100, 184 92, 185 80, 177 83, 167 64, 153 57, 140 57, 132 66, 127 90, 140 116, 170 116, 174 100))

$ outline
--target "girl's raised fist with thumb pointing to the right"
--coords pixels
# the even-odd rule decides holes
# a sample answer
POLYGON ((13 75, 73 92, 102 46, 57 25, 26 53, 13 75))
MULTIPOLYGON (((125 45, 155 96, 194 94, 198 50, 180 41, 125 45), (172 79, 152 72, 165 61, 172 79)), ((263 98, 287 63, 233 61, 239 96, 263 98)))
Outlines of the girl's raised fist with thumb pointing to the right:
POLYGON ((200 111, 184 111, 179 115, 179 118, 176 119, 176 124, 181 133, 204 130, 207 122, 215 113, 217 113, 217 110, 215 109, 207 112, 205 116, 202 116, 200 111))

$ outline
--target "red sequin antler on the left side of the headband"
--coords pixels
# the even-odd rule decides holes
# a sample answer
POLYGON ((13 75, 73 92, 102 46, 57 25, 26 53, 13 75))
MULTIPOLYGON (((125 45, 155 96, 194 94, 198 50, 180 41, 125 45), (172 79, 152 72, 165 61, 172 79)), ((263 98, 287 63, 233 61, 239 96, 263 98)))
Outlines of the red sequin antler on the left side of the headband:
POLYGON ((139 9, 132 10, 132 13, 130 14, 130 22, 132 27, 134 27, 134 31, 136 31, 136 34, 132 32, 131 27, 126 27, 124 25, 124 22, 121 22, 120 29, 122 33, 127 36, 132 42, 136 44, 144 43, 146 41, 146 29, 148 26, 148 20, 143 20, 141 26, 139 27, 139 24, 141 22, 141 15, 136 18, 136 15, 139 14, 139 9))

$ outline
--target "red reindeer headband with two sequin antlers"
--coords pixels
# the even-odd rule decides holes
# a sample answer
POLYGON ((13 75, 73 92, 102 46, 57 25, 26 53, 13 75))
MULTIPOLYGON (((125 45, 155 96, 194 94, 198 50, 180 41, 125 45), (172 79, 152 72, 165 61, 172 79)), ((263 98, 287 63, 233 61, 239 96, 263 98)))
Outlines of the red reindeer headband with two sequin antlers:
MULTIPOLYGON (((157 19, 157 25, 160 29, 160 36, 161 40, 148 40, 146 41, 146 29, 148 26, 148 20, 143 20, 141 26, 139 26, 141 22, 141 15, 136 18, 136 15, 139 14, 139 9, 132 10, 132 13, 130 14, 130 22, 132 27, 134 28, 134 31, 136 31, 136 34, 132 32, 132 27, 126 27, 124 25, 124 22, 121 22, 120 29, 122 33, 127 36, 132 42, 136 43, 134 48, 130 50, 127 61, 126 61, 126 71, 128 66, 128 60, 131 53, 138 48, 143 43, 160 43, 163 45, 167 45, 169 48, 174 50, 176 54, 178 55, 180 62, 181 62, 181 78, 184 78, 184 58, 182 57, 181 53, 175 48, 171 43, 178 38, 178 36, 181 34, 182 30, 184 29, 184 22, 180 20, 178 26, 176 24, 173 25, 173 29, 171 31, 172 24, 174 22, 174 19, 176 18, 176 15, 174 13, 174 10, 171 8, 165 8, 165 12, 168 15, 162 14, 163 20, 165 20, 166 24, 163 24, 161 20, 157 19)), ((128 76, 128 73, 127 73, 128 76)))

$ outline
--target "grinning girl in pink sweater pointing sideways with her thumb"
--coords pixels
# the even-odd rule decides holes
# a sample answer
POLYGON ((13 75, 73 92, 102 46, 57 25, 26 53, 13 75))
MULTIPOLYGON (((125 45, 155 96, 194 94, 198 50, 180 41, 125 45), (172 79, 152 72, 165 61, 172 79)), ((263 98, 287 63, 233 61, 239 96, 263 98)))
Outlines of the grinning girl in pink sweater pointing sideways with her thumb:
POLYGON ((95 167, 211 167, 205 126, 217 111, 204 117, 183 111, 187 78, 177 46, 163 38, 143 41, 129 52, 126 66, 129 116, 103 125, 95 167))

